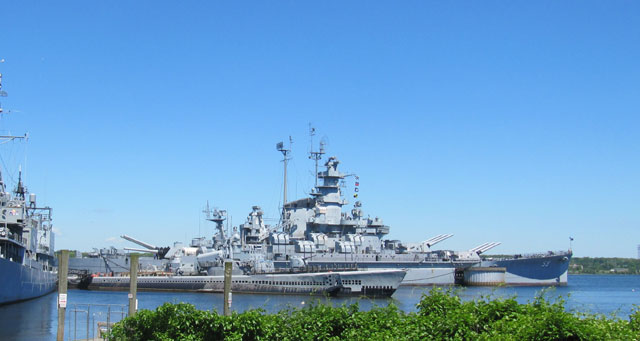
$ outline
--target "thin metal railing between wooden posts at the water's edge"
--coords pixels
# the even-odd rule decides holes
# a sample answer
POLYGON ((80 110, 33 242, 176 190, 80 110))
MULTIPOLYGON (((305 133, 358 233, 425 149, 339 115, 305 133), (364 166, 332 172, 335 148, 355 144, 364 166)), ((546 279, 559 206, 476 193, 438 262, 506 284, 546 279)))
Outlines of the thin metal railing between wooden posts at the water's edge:
POLYGON ((111 327, 128 315, 125 304, 69 304, 66 340, 102 340, 111 327))

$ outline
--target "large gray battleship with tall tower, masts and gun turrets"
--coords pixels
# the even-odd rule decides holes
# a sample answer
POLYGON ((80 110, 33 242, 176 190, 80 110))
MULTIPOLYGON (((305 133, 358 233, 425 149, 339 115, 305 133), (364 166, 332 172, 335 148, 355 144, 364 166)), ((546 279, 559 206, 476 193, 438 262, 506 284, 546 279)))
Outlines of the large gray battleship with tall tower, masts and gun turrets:
MULTIPOLYGON (((311 130, 312 136, 314 130, 311 130)), ((280 223, 265 225, 263 212, 254 206, 247 221, 231 238, 233 257, 247 259, 264 254, 276 268, 304 266, 340 269, 355 267, 366 270, 405 269, 403 285, 566 285, 569 251, 519 254, 499 259, 483 259, 481 255, 500 245, 487 242, 464 251, 438 250, 433 246, 452 234, 440 234, 420 243, 387 240, 390 227, 382 219, 365 217, 362 203, 356 200, 351 210, 343 197, 341 185, 346 177, 359 178, 338 170, 339 160, 329 157, 325 170, 318 162, 325 154, 321 143, 310 152, 315 160, 315 186, 309 197, 287 200, 287 161, 290 149, 282 142, 276 149, 283 155, 284 198, 280 223)), ((357 190, 354 194, 357 199, 357 190)), ((218 226, 214 240, 224 240, 218 226)))

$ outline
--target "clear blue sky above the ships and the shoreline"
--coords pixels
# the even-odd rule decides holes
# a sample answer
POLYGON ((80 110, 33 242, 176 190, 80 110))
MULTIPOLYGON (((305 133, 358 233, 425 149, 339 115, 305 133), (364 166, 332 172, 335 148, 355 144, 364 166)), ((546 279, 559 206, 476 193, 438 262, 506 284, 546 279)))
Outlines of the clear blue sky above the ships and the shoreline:
POLYGON ((312 122, 390 238, 637 255, 638 2, 3 1, 0 58, 1 129, 31 134, 5 178, 57 248, 211 236, 206 200, 276 218, 275 144, 304 196, 312 122))

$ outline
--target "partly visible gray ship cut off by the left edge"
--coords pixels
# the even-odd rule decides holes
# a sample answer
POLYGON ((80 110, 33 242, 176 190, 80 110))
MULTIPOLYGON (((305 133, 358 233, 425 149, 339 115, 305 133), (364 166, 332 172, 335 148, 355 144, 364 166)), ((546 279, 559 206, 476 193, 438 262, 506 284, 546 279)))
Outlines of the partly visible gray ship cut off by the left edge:
MULTIPOLYGON (((0 95, 6 96, 2 75, 0 95)), ((19 139, 26 135, 0 136, 1 143, 19 139)), ((51 213, 50 207, 37 206, 36 195, 22 183, 21 171, 13 193, 7 192, 0 173, 0 304, 36 298, 56 288, 51 213)))

